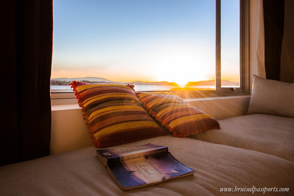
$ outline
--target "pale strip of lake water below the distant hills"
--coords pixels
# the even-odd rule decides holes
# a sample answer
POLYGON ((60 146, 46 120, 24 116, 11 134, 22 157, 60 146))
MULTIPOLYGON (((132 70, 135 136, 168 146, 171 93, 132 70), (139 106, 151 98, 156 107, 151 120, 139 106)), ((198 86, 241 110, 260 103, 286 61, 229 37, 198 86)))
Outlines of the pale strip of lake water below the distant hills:
MULTIPOLYGON (((236 86, 222 86, 222 87, 236 87, 236 86)), ((135 85, 136 91, 167 91, 175 88, 174 86, 166 85, 135 85)), ((190 86, 190 88, 197 89, 215 89, 215 86, 190 86)), ((69 85, 51 85, 51 92, 73 92, 69 85)))

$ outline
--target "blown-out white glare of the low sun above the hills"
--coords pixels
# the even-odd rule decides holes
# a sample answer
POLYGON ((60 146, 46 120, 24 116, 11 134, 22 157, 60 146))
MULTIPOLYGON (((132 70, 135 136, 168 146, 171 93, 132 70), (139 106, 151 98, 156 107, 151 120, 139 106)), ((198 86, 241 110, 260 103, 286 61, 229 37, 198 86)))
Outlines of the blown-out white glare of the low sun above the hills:
POLYGON ((186 87, 188 82, 207 80, 215 73, 215 60, 207 55, 196 55, 185 47, 166 48, 153 64, 153 75, 158 81, 175 82, 186 87))

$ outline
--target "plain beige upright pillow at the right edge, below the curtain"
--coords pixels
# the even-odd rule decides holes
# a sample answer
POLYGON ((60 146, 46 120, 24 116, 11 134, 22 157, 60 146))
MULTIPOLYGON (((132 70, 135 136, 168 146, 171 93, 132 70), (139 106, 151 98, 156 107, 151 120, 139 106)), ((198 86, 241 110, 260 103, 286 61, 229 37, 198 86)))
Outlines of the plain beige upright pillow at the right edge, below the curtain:
POLYGON ((267 80, 253 75, 247 114, 256 113, 294 118, 294 83, 267 80))

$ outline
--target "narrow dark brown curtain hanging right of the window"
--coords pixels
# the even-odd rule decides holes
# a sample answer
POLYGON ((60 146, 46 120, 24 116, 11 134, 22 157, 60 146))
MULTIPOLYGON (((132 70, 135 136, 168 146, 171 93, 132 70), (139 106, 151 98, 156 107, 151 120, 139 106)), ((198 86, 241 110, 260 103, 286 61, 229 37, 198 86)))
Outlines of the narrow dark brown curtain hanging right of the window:
POLYGON ((263 0, 265 74, 270 80, 280 81, 284 5, 284 0, 263 0))

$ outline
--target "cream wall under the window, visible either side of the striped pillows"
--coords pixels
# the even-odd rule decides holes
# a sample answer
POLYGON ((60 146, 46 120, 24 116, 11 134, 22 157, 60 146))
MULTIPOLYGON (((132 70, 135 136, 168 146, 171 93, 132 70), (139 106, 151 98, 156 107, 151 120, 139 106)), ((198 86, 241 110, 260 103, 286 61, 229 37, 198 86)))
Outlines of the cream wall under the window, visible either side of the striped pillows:
MULTIPOLYGON (((185 100, 216 120, 245 115, 250 96, 211 97, 185 100)), ((50 154, 93 146, 83 112, 77 104, 51 106, 50 154)))

